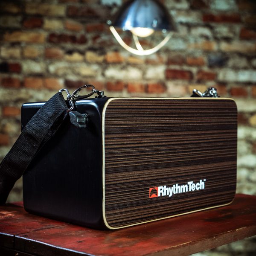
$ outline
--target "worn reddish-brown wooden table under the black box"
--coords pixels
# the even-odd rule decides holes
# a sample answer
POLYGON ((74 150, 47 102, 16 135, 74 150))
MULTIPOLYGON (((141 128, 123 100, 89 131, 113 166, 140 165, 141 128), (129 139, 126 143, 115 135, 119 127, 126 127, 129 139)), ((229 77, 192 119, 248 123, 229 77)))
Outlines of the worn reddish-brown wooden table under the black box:
POLYGON ((189 255, 256 235, 256 196, 121 230, 93 230, 0 207, 0 255, 189 255))

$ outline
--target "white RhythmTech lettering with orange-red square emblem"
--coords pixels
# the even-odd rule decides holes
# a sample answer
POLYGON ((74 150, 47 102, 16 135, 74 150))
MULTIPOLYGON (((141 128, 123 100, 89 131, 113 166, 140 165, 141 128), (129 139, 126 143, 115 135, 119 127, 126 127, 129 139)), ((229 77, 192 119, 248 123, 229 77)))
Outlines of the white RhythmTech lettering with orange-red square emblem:
POLYGON ((175 194, 180 194, 184 192, 190 192, 195 190, 202 190, 204 189, 204 180, 200 180, 198 183, 194 183, 193 181, 189 181, 187 184, 179 185, 178 183, 174 184, 173 186, 158 186, 149 189, 149 198, 155 198, 159 196, 169 195, 171 197, 175 194))

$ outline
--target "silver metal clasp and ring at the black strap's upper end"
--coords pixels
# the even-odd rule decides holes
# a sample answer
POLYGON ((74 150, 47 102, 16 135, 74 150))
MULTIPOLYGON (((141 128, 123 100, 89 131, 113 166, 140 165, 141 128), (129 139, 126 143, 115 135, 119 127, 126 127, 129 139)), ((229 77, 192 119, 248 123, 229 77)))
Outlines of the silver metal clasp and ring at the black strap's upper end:
POLYGON ((93 95, 93 93, 97 93, 98 96, 96 96, 95 98, 103 98, 103 97, 106 97, 104 95, 104 91, 101 91, 101 90, 96 90, 95 87, 92 85, 92 84, 86 84, 86 85, 83 85, 81 86, 80 88, 76 89, 72 94, 69 93, 69 91, 67 89, 61 89, 59 90, 59 92, 63 92, 65 91, 67 93, 67 100, 70 102, 71 104, 71 107, 69 109, 67 109, 67 112, 70 112, 73 110, 73 108, 75 107, 74 105, 74 100, 77 100, 77 99, 85 99, 85 98, 88 98, 90 96, 93 95), (79 95, 79 92, 84 89, 84 88, 88 88, 88 87, 91 87, 92 88, 92 92, 91 93, 88 93, 86 95, 79 95))

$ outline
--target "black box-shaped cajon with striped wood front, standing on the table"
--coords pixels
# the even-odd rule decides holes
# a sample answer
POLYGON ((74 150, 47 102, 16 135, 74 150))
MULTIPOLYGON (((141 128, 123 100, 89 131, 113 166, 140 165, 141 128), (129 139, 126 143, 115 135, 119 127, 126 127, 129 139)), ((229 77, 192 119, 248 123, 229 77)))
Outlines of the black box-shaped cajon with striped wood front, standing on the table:
MULTIPOLYGON (((44 103, 22 107, 22 126, 44 103)), ((28 212, 116 229, 230 204, 237 108, 224 98, 99 98, 76 102, 23 175, 28 212)))

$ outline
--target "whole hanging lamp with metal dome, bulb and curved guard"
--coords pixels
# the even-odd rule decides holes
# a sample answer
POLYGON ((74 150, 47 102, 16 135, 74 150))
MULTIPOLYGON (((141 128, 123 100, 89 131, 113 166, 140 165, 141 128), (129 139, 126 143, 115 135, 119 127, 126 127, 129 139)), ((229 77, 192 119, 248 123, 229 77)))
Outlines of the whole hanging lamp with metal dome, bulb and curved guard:
POLYGON ((113 19, 108 20, 107 23, 119 44, 136 55, 150 55, 157 52, 169 41, 173 32, 177 31, 175 22, 168 10, 157 0, 128 0, 117 11, 113 19), (115 27, 124 31, 131 31, 137 49, 125 44, 115 27), (169 33, 157 46, 151 49, 143 49, 138 37, 148 37, 155 30, 169 33))

